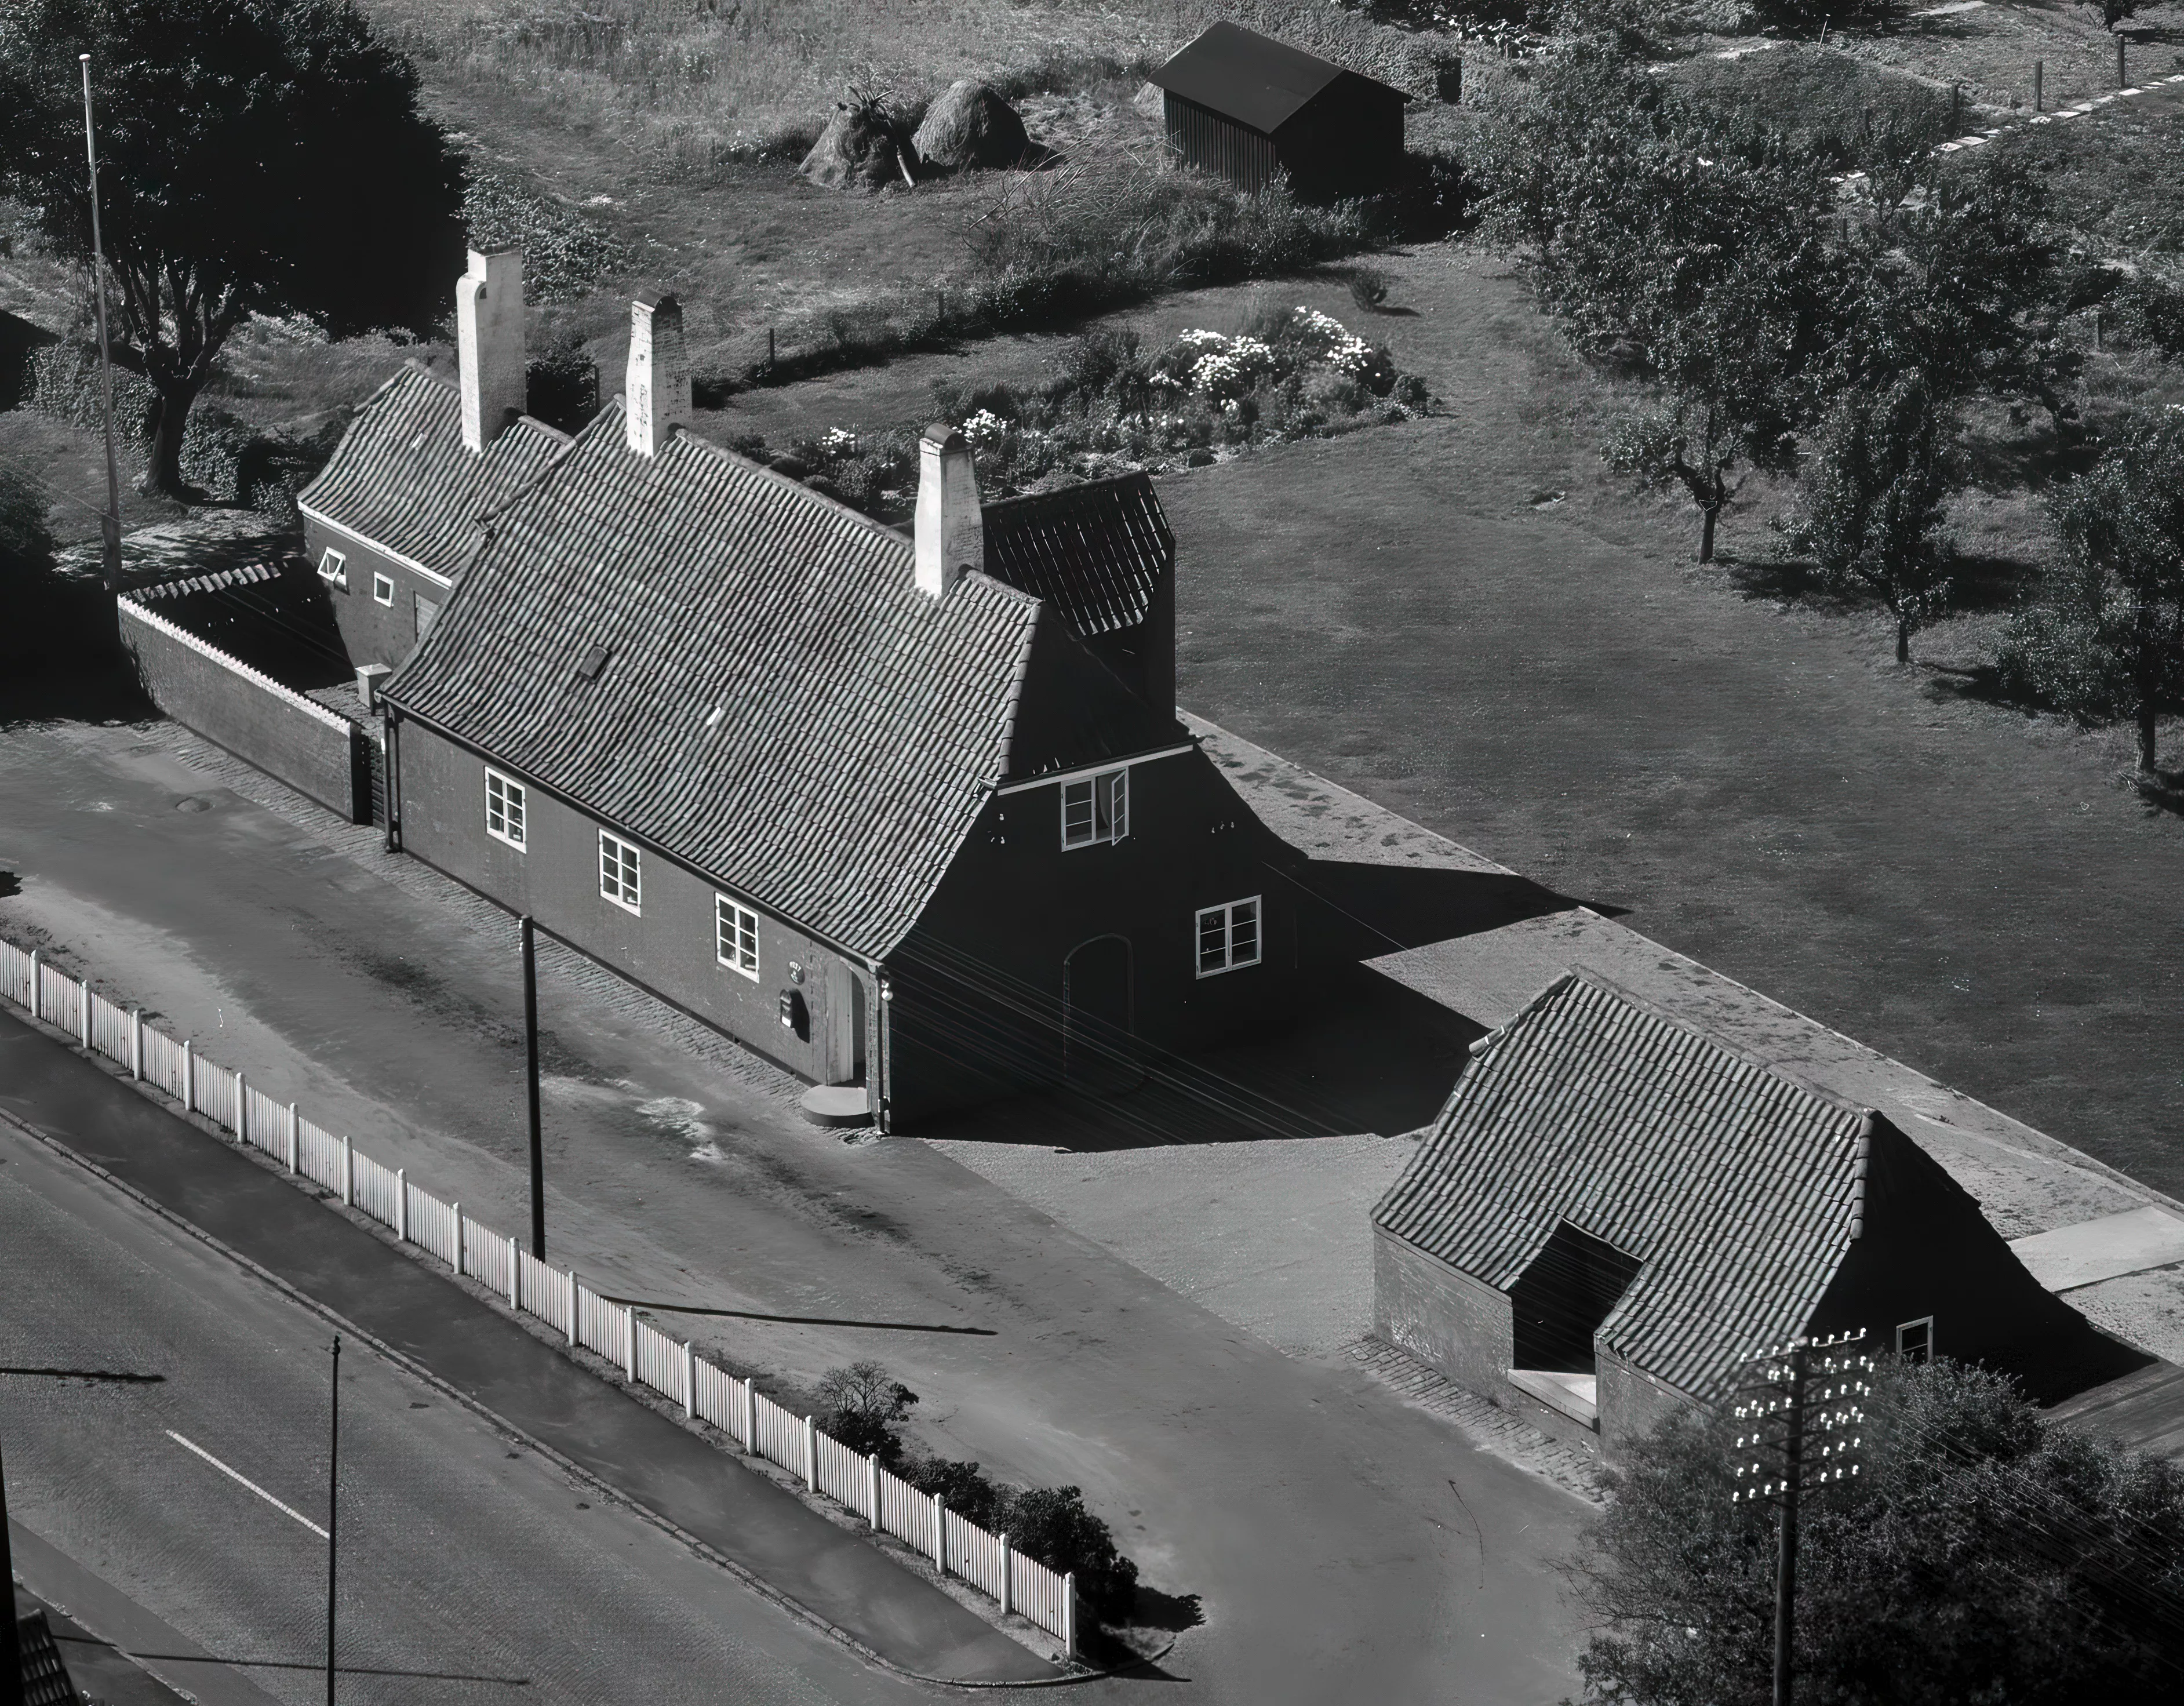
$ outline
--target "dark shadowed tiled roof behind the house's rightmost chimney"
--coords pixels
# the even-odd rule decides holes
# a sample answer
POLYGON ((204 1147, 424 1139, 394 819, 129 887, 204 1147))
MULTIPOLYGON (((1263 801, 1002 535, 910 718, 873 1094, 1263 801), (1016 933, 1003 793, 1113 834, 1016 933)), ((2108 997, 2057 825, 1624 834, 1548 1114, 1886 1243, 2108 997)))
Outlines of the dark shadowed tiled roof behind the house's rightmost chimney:
POLYGON ((1144 474, 985 505, 987 572, 1051 601, 1079 640, 1142 623, 1173 561, 1144 474))

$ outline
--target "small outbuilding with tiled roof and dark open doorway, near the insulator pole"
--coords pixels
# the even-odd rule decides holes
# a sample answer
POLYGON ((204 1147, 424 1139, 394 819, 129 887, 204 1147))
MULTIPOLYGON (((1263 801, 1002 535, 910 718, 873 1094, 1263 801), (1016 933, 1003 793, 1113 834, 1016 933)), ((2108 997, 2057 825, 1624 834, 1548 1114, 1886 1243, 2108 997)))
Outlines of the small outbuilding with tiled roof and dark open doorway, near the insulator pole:
POLYGON ((2042 1398, 2116 1372, 1885 1116, 1594 972, 1472 1046, 1372 1221, 1378 1337, 1610 1453, 1806 1335, 1987 1363, 2042 1398))

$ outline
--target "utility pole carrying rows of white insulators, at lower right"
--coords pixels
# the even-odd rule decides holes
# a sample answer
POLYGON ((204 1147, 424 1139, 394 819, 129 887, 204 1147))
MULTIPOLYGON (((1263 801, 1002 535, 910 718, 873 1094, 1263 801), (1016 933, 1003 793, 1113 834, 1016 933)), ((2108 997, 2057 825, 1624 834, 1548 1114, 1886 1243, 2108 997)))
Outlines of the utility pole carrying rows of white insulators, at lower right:
POLYGON ((1773 1706, 1791 1706, 1791 1658, 1797 1645, 1797 1509, 1804 1494, 1848 1481, 1859 1472, 1859 1400, 1872 1389, 1874 1361, 1850 1346, 1865 1332, 1832 1339, 1793 1339, 1754 1361, 1758 1374, 1747 1385, 1736 1420, 1752 1433, 1736 1448, 1754 1453, 1738 1461, 1732 1501, 1780 1505, 1782 1529, 1776 1551, 1776 1662, 1773 1706), (1749 1481, 1747 1481, 1749 1477, 1749 1481))

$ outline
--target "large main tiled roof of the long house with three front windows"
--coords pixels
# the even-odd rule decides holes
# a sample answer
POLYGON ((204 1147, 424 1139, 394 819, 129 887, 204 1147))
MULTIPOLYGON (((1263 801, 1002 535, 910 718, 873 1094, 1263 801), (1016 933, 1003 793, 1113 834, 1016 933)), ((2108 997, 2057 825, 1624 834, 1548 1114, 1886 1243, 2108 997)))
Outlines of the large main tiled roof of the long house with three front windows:
POLYGON ((1040 623, 985 574, 924 596, 906 537, 690 433, 631 454, 616 402, 494 518, 384 692, 885 955, 1002 778, 1040 623))

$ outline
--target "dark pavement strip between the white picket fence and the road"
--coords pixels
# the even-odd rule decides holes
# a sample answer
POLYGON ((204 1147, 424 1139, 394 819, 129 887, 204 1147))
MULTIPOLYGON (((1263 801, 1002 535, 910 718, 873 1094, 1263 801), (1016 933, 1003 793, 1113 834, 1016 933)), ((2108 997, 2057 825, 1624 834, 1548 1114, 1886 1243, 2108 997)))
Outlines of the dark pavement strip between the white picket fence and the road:
POLYGON ((858 1536, 11 1016, 0 1016, 0 1110, 61 1138, 891 1662, 965 1680, 1055 1675, 858 1536))

